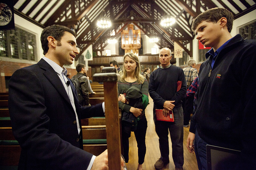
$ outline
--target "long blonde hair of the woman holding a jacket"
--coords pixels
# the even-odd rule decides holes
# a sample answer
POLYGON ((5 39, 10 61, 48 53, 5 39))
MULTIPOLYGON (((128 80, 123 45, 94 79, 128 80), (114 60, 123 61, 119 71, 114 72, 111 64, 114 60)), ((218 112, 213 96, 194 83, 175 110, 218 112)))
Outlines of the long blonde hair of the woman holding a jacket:
MULTIPOLYGON (((145 80, 144 80, 144 76, 142 76, 140 74, 140 61, 139 61, 139 58, 134 53, 126 53, 124 55, 124 59, 127 56, 130 57, 132 60, 134 60, 136 62, 136 68, 135 68, 135 71, 134 71, 134 76, 136 77, 136 82, 138 84, 140 84, 140 83, 143 84, 145 80)), ((127 77, 127 72, 126 72, 126 70, 124 68, 124 62, 123 62, 123 72, 124 72, 124 74, 120 78, 121 82, 124 82, 125 81, 124 79, 127 77)))

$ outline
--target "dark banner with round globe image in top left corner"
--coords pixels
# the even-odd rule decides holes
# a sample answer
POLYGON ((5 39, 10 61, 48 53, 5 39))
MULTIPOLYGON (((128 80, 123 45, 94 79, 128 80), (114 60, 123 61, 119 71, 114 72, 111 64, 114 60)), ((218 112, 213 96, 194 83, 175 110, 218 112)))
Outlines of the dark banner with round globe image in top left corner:
POLYGON ((15 29, 12 0, 0 0, 0 30, 15 29))

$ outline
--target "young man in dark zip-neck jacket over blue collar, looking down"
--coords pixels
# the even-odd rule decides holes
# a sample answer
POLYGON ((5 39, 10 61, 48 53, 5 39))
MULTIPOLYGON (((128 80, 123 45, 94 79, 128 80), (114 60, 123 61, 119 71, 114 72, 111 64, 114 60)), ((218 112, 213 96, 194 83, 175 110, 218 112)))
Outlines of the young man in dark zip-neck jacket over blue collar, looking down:
POLYGON ((233 14, 224 8, 206 10, 192 23, 196 39, 212 47, 200 66, 186 144, 200 170, 207 168, 206 145, 241 151, 229 169, 256 169, 256 41, 232 37, 232 26, 233 14))

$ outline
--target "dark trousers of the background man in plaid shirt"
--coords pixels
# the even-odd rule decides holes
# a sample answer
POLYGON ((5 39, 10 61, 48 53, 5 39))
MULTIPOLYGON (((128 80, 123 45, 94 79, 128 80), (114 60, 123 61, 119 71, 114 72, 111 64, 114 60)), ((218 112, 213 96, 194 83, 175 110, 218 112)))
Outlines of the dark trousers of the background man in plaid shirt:
POLYGON ((193 113, 194 109, 194 96, 189 96, 184 98, 184 105, 183 105, 183 110, 184 110, 184 125, 188 125, 190 121, 190 115, 193 113))

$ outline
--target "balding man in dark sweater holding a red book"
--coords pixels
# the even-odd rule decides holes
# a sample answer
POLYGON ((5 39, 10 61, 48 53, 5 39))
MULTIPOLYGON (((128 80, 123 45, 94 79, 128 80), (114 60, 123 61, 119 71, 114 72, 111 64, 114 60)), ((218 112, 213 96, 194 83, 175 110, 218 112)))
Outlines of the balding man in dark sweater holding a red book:
POLYGON ((168 140, 168 133, 170 132, 175 169, 182 170, 184 164, 182 99, 186 95, 187 88, 182 68, 170 64, 171 58, 170 49, 163 48, 160 50, 159 61, 161 66, 151 73, 148 86, 150 97, 154 101, 154 122, 161 152, 161 157, 154 166, 156 169, 162 169, 170 162, 168 140), (182 85, 180 90, 177 91, 178 81, 182 81, 182 85), (168 116, 172 111, 174 122, 156 120, 156 109, 162 109, 164 116, 168 116))

